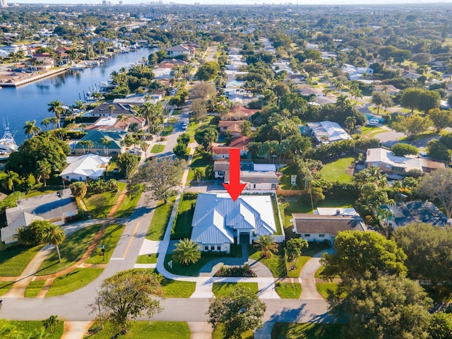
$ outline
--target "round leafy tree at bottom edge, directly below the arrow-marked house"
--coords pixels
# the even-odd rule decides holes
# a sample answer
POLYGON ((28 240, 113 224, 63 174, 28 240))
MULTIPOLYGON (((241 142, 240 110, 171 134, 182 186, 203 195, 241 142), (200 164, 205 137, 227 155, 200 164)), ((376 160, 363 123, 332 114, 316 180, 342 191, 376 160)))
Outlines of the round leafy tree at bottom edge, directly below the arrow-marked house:
POLYGON ((210 299, 208 322, 213 328, 223 326, 225 338, 239 339, 247 330, 262 327, 266 304, 256 293, 244 287, 238 287, 229 297, 210 299))

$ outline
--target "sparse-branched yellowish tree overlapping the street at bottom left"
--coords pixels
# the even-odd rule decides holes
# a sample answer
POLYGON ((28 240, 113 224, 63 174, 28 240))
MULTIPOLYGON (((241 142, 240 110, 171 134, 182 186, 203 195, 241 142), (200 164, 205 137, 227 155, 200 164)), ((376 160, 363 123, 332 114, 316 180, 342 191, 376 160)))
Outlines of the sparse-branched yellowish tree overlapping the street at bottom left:
POLYGON ((100 309, 117 333, 125 334, 130 328, 130 319, 160 312, 160 302, 155 299, 163 297, 160 280, 159 275, 149 270, 124 270, 102 282, 90 307, 93 313, 100 309))

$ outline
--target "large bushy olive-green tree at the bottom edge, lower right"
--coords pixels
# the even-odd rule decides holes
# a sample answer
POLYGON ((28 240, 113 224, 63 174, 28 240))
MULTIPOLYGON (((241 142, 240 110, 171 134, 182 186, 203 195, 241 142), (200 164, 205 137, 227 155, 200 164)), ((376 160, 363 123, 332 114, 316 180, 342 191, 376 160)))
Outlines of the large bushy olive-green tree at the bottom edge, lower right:
POLYGON ((428 339, 432 299, 403 275, 357 275, 328 297, 336 319, 347 319, 344 338, 428 339))

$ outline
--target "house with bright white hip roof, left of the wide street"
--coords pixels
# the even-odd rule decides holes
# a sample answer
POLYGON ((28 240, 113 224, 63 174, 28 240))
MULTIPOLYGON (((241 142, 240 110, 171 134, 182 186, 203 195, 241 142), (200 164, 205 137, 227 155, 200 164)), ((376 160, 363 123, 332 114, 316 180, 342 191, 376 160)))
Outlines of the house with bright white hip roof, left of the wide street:
POLYGON ((59 177, 66 182, 97 180, 104 175, 110 160, 112 157, 102 157, 91 153, 81 157, 66 157, 68 165, 59 174, 59 177))

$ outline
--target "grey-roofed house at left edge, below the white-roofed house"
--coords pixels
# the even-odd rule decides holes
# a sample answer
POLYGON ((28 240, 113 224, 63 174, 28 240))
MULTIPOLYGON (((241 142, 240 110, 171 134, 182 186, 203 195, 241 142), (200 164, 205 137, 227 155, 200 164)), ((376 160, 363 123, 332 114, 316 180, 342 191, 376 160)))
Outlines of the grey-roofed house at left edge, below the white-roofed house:
POLYGON ((16 203, 16 207, 6 209, 6 227, 0 230, 1 241, 5 244, 16 242, 17 230, 30 225, 33 220, 64 225, 68 218, 78 215, 78 205, 71 189, 19 199, 16 203))

